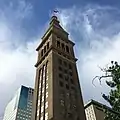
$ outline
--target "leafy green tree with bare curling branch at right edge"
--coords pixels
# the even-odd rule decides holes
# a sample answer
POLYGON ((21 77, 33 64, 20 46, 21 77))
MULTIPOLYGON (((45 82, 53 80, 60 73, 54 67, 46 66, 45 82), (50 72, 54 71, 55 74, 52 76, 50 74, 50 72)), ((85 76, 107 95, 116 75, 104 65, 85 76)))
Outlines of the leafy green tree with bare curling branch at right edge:
POLYGON ((120 120, 120 65, 118 62, 111 61, 111 64, 101 69, 104 72, 103 76, 96 76, 101 80, 105 78, 106 84, 111 88, 108 95, 102 94, 102 97, 110 104, 111 112, 105 109, 105 120, 120 120))

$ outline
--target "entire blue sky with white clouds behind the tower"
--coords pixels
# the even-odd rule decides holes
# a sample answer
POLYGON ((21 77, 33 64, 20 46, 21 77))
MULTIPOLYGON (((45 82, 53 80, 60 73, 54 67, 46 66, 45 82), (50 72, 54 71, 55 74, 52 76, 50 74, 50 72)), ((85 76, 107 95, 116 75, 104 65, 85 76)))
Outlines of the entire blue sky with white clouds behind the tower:
POLYGON ((35 49, 48 27, 52 11, 59 10, 63 28, 75 42, 77 68, 84 102, 105 103, 109 88, 92 79, 99 67, 120 62, 119 0, 0 0, 0 120, 20 85, 34 86, 35 49))

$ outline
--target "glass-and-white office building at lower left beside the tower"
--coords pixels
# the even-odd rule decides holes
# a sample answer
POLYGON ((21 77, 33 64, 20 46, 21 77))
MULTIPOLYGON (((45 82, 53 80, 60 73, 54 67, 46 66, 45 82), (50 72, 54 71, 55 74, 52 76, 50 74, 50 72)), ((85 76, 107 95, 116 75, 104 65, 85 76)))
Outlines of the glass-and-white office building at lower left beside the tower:
POLYGON ((31 120, 33 89, 21 86, 5 109, 3 120, 31 120))

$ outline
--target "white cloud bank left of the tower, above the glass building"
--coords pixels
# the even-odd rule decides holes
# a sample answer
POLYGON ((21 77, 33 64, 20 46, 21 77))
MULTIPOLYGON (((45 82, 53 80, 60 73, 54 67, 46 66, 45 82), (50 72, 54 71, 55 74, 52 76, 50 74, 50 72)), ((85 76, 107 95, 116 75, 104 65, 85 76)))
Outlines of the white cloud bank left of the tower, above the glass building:
POLYGON ((16 7, 11 2, 0 9, 0 120, 20 85, 33 87, 35 79, 35 49, 40 39, 24 41, 26 36, 20 32, 23 20, 31 17, 32 6, 25 0, 16 2, 16 7))

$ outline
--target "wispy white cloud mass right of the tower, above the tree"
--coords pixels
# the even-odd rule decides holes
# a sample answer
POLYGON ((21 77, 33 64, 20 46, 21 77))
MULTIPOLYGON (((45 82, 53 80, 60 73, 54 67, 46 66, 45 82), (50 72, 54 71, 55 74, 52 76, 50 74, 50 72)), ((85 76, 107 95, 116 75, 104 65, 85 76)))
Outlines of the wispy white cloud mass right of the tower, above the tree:
POLYGON ((103 101, 101 93, 108 92, 104 84, 100 86, 92 79, 101 75, 100 67, 105 67, 111 60, 120 62, 120 11, 109 6, 89 5, 60 9, 59 19, 70 32, 75 41, 78 57, 78 69, 84 100, 96 99, 103 101))

